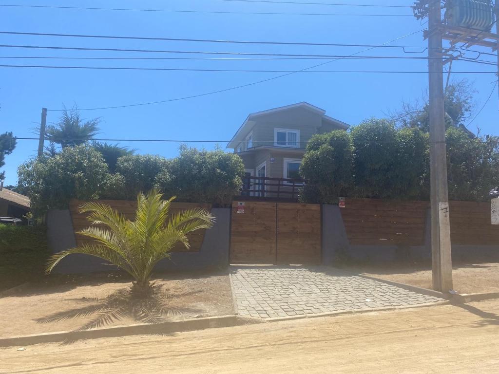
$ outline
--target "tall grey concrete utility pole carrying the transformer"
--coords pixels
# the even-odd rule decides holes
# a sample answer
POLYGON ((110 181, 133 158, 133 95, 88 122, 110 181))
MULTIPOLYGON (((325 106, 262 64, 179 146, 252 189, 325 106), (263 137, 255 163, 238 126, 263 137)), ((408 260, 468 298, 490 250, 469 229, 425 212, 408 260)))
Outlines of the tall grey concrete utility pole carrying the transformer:
POLYGON ((428 79, 430 111, 430 188, 433 289, 452 290, 451 230, 447 192, 442 19, 440 0, 428 9, 428 79))

